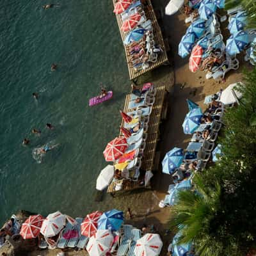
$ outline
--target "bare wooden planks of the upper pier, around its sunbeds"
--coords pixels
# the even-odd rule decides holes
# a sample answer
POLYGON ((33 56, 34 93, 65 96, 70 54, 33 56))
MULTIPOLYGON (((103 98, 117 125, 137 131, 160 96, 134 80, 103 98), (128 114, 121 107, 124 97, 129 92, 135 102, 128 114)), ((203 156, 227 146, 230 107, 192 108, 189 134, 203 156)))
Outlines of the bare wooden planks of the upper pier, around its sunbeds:
MULTIPOLYGON (((115 6, 115 0, 113 0, 113 5, 115 6)), ((144 74, 154 68, 157 68, 165 63, 168 63, 168 57, 166 54, 166 47, 164 45, 163 35, 161 32, 161 28, 159 27, 159 24, 157 22, 156 14, 154 12, 154 8, 153 8, 150 0, 147 0, 145 7, 144 7, 144 11, 145 11, 145 15, 146 15, 147 19, 150 19, 152 21, 154 41, 155 41, 156 45, 161 46, 161 49, 163 49, 163 52, 161 52, 159 54, 157 61, 155 63, 149 62, 149 67, 145 68, 145 70, 143 70, 143 69, 136 70, 135 68, 129 66, 129 62, 131 61, 131 56, 129 56, 129 50, 128 50, 127 46, 124 45, 125 56, 126 56, 126 61, 127 61, 128 70, 129 70, 129 76, 130 76, 131 80, 138 76, 141 76, 142 74, 144 74)), ((129 32, 122 31, 122 29, 121 29, 122 19, 121 19, 120 15, 116 15, 116 20, 118 23, 122 41, 124 41, 125 37, 129 34, 129 32)))

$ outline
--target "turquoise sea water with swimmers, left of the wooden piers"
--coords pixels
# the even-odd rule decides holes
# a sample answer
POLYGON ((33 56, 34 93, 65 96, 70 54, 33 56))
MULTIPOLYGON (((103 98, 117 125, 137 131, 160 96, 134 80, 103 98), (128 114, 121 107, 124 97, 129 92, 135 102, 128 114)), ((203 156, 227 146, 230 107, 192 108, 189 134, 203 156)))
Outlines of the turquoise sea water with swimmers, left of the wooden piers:
POLYGON ((102 151, 118 135, 118 109, 129 91, 112 1, 61 0, 44 10, 47 3, 1 2, 1 223, 18 209, 72 216, 97 209, 102 151), (58 64, 56 72, 51 63, 58 64), (90 108, 100 82, 113 99, 90 108), (55 129, 46 129, 47 122, 55 129), (42 135, 31 134, 33 128, 42 135), (33 148, 49 142, 60 145, 36 163, 33 148))

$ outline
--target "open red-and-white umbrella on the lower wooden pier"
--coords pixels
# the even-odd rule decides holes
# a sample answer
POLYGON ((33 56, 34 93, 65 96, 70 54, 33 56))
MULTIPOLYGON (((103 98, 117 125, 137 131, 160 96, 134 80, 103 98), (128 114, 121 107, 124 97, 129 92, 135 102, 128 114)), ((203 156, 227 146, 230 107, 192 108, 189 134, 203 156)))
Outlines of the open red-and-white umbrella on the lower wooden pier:
POLYGON ((106 146, 103 154, 107 162, 113 162, 122 156, 128 147, 125 138, 115 138, 106 146))

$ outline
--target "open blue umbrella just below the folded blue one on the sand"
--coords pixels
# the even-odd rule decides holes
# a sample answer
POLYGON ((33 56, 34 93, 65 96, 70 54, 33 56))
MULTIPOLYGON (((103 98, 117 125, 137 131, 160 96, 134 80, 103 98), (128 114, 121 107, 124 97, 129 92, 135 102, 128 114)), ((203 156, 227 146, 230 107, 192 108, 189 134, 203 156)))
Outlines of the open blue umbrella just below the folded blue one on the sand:
POLYGON ((182 124, 184 133, 191 134, 195 132, 200 125, 200 119, 202 118, 202 116, 203 113, 201 108, 195 108, 189 111, 182 124))

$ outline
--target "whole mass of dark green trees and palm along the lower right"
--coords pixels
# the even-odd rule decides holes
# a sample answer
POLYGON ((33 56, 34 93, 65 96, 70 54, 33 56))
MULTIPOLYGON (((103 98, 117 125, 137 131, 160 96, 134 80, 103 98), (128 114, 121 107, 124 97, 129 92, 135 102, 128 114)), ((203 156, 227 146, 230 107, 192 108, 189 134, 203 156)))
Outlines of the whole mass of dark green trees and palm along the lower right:
POLYGON ((195 175, 198 193, 182 191, 172 223, 180 243, 193 241, 202 256, 246 255, 256 239, 256 68, 244 74, 241 104, 227 109, 223 157, 195 175))

